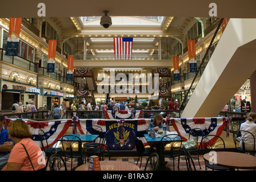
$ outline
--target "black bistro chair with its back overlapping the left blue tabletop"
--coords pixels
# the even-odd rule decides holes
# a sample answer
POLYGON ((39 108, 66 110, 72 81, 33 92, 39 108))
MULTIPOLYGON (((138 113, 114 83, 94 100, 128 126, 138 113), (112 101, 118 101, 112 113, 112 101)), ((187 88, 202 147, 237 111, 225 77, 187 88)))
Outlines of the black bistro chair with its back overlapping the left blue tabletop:
MULTIPOLYGON (((81 151, 79 151, 79 145, 82 145, 82 141, 79 137, 74 136, 74 135, 64 135, 61 138, 61 144, 63 147, 63 152, 65 154, 65 162, 67 163, 68 159, 71 159, 71 170, 72 164, 73 164, 73 159, 78 159, 82 158, 82 162, 85 162, 86 154, 81 151), (65 149, 66 146, 66 149, 65 149), (75 150, 75 148, 78 147, 78 150, 75 150)), ((82 147, 82 146, 81 146, 82 147)))

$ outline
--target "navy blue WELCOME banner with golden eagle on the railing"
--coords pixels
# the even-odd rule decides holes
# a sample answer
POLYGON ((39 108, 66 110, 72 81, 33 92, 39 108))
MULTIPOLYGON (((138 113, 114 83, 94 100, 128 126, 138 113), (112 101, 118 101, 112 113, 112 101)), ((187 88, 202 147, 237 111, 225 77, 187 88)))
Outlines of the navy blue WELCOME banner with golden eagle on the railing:
POLYGON ((109 130, 107 147, 109 150, 133 150, 135 146, 133 131, 137 131, 135 121, 106 121, 106 131, 109 130))

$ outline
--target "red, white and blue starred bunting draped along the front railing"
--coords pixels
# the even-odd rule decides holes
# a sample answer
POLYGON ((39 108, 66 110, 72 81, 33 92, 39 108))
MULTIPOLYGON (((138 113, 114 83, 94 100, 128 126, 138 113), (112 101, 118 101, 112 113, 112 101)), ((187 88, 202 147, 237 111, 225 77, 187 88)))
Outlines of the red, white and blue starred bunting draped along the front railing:
MULTIPOLYGON (((229 118, 230 119, 230 118, 229 118)), ((182 136, 183 140, 187 140, 189 137, 189 131, 195 128, 200 128, 203 130, 204 135, 221 135, 222 131, 229 120, 228 118, 164 118, 166 122, 171 122, 175 131, 182 136)), ((6 125, 17 119, 6 119, 6 125)), ((106 122, 119 122, 120 119, 79 119, 73 117, 72 119, 54 119, 50 121, 33 121, 30 119, 23 119, 29 126, 31 133, 33 134, 32 139, 41 147, 41 142, 38 135, 38 130, 43 130, 47 136, 47 142, 50 146, 57 143, 59 138, 65 135, 67 129, 69 129, 71 123, 79 130, 81 134, 87 133, 87 128, 91 126, 100 126, 102 128, 102 133, 104 134, 106 129, 106 122)), ((147 127, 153 119, 124 119, 122 123, 126 121, 134 122, 137 125, 137 131, 134 131, 139 139, 142 140, 143 144, 146 146, 148 143, 144 137, 146 134, 147 127)), ((74 130, 77 130, 74 129, 74 130)), ((78 131, 77 130, 77 131, 78 131)), ((103 135, 102 135, 103 136, 103 135)), ((214 139, 214 138, 213 138, 214 139)), ((97 141, 96 141, 97 142, 97 141)), ((46 146, 46 141, 43 141, 44 146, 46 146)))

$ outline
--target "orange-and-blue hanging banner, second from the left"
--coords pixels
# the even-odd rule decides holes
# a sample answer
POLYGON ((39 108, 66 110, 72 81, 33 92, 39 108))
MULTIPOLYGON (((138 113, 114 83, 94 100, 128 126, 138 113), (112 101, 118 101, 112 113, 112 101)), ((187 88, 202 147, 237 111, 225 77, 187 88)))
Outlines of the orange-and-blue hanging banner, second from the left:
POLYGON ((48 45, 48 61, 47 61, 47 72, 55 72, 55 54, 56 54, 57 40, 49 40, 48 45))

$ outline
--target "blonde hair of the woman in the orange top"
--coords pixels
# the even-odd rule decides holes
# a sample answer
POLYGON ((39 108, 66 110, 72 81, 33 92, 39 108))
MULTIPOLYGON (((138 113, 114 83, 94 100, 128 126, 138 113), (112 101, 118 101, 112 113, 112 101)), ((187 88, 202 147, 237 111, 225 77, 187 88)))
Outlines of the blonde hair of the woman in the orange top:
POLYGON ((21 119, 10 122, 8 133, 11 137, 16 138, 32 137, 31 131, 29 130, 29 126, 27 126, 27 123, 21 119))

